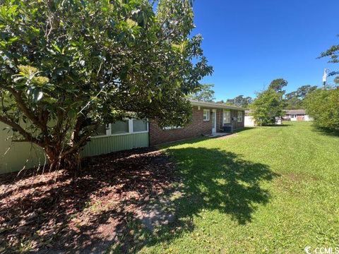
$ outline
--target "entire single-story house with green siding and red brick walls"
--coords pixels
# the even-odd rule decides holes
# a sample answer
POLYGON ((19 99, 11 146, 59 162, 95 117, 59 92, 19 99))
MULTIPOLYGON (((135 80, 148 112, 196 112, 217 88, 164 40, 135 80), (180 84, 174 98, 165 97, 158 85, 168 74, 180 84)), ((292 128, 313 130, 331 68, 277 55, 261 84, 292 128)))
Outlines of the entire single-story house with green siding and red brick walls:
MULTIPOLYGON (((81 152, 83 157, 119 150, 148 147, 244 127, 244 109, 214 102, 191 100, 193 119, 189 126, 160 128, 153 119, 126 119, 101 126, 81 152), (225 127, 225 129, 224 129, 225 127)), ((11 143, 6 125, 0 122, 0 174, 46 163, 43 150, 30 143, 11 143)))

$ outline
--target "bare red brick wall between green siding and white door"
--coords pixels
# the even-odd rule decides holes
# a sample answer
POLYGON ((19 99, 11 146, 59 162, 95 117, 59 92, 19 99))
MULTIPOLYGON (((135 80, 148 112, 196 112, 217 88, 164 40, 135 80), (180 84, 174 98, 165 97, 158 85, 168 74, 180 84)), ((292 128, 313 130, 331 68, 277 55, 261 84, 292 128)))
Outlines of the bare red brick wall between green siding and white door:
POLYGON ((163 130, 154 120, 150 120, 150 145, 195 138, 210 133, 212 133, 212 117, 210 116, 210 121, 203 121, 203 107, 200 110, 198 107, 193 107, 192 121, 185 128, 163 130))

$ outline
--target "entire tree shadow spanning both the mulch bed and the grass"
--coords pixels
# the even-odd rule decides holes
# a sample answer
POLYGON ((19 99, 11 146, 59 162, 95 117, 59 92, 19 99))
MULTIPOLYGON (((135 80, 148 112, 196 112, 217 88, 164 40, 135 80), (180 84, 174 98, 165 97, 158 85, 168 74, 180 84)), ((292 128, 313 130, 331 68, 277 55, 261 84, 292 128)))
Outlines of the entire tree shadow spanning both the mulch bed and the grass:
POLYGON ((133 253, 193 231, 203 210, 247 224, 270 200, 261 184, 278 175, 267 165, 204 147, 167 152, 172 159, 152 148, 87 158, 76 179, 61 171, 0 182, 0 252, 133 253))

